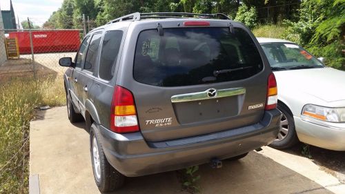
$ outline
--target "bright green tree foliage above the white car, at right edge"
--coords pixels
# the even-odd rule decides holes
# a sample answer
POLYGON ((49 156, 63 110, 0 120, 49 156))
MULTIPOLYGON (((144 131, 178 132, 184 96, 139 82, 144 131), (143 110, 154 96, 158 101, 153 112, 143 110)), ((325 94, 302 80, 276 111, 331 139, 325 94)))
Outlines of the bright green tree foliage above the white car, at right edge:
POLYGON ((345 1, 302 1, 299 21, 285 21, 284 38, 306 46, 317 57, 326 57, 326 64, 345 68, 345 1))

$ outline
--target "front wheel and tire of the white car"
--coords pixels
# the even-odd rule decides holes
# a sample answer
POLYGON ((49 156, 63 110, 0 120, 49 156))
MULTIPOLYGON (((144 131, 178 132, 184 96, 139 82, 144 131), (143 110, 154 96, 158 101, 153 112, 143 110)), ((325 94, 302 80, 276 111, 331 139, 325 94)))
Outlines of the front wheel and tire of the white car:
POLYGON ((278 109, 282 112, 282 120, 277 138, 270 144, 270 147, 286 149, 295 146, 299 142, 293 114, 284 104, 278 103, 278 109))

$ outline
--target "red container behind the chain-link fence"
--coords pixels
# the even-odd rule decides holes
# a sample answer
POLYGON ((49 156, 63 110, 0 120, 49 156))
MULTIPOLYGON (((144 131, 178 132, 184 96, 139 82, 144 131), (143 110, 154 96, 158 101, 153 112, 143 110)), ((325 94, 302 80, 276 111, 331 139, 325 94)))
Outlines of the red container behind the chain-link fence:
MULTIPOLYGON (((30 32, 10 32, 10 38, 17 37, 20 54, 30 54, 30 32)), ((34 53, 75 52, 80 45, 79 30, 32 31, 34 53)))

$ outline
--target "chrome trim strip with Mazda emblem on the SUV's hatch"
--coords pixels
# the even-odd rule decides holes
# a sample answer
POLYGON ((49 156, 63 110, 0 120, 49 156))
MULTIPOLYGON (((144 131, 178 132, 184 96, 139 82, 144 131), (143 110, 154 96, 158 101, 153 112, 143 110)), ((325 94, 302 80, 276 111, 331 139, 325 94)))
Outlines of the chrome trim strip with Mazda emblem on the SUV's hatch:
POLYGON ((197 100, 204 100, 204 99, 215 99, 221 97, 231 97, 235 95, 244 95, 246 93, 246 88, 229 88, 229 89, 222 89, 216 90, 216 94, 213 97, 210 97, 208 93, 210 90, 213 92, 214 88, 210 88, 205 90, 204 92, 199 93, 188 93, 188 94, 181 94, 181 95, 173 95, 171 97, 171 102, 184 102, 184 101, 197 101, 197 100))

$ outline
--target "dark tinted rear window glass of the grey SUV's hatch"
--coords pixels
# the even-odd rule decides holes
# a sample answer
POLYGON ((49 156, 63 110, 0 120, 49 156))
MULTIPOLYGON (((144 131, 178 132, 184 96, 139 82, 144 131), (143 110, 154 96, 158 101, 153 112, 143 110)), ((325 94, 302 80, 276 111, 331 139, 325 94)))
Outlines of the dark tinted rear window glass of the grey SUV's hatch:
POLYGON ((189 86, 235 81, 263 68, 255 43, 235 28, 169 28, 139 34, 135 49, 135 80, 154 86, 189 86))

